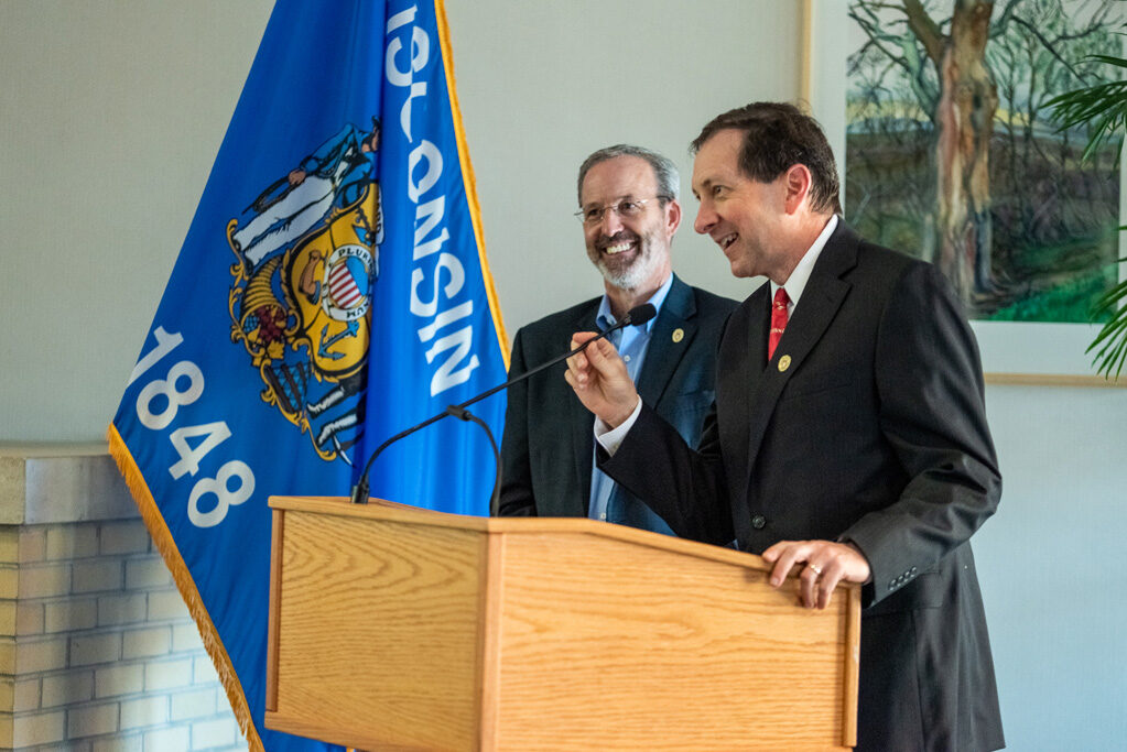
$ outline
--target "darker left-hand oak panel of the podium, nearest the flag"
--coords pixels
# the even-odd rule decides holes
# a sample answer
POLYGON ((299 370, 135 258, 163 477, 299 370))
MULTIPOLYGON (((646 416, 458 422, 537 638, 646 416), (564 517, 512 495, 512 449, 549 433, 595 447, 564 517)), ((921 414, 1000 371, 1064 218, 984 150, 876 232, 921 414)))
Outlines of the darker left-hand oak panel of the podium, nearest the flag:
POLYGON ((268 725, 362 749, 474 749, 482 537, 292 509, 282 529, 268 725))

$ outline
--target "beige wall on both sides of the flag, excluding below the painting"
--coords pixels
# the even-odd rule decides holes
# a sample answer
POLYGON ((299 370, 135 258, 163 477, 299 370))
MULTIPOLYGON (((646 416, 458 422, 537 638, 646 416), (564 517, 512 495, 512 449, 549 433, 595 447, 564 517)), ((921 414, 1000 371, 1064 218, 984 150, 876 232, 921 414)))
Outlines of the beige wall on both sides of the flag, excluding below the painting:
MULTIPOLYGON (((270 5, 0 2, 0 441, 101 438, 270 5)), ((651 146, 687 191, 709 117, 797 96, 799 6, 711 0, 686 23, 675 0, 447 0, 511 334, 601 292, 570 216, 583 158, 651 146)), ((742 297, 686 208, 676 268, 742 297)))

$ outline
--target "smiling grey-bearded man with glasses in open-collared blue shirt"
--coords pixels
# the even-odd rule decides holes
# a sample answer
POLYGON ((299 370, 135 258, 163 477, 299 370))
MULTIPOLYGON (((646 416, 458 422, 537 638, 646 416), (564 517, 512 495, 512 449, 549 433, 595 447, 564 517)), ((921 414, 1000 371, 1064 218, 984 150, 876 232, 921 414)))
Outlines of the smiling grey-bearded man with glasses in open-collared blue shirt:
MULTIPOLYGON (((618 341, 631 349, 633 370, 640 366, 638 391, 695 444, 713 397, 720 330, 736 303, 673 275, 669 245, 681 222, 678 188, 676 165, 649 150, 618 145, 587 158, 579 169, 579 217, 605 295, 522 328, 509 371, 523 373, 566 351, 577 330, 606 328, 630 308, 654 302, 657 316, 618 341)), ((560 364, 509 387, 500 513, 594 517, 672 535, 646 504, 594 472, 594 417, 567 386, 565 369, 560 364)))

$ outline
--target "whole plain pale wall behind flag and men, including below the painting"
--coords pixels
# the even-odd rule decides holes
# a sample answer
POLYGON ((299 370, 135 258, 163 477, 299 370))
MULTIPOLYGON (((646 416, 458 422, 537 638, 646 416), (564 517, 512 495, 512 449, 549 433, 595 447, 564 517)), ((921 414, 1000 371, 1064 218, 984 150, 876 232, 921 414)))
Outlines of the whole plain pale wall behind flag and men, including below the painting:
MULTIPOLYGON (((269 7, 0 2, 0 441, 100 438, 269 7)), ((447 0, 511 333, 600 289, 570 216, 583 158, 658 149, 687 194, 708 118, 798 96, 799 7, 447 0)), ((743 297, 683 203, 676 269, 743 297)), ((987 408, 1005 492, 975 546, 1010 747, 1110 749, 1127 732, 1127 391, 992 386, 987 408)))

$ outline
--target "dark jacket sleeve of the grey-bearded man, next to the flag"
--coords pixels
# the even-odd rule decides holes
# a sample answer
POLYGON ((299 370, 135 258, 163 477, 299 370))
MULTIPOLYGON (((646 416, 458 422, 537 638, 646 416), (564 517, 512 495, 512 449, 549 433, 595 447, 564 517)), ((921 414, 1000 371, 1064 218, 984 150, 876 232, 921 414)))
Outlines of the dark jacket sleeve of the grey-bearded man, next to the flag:
MULTIPOLYGON (((508 373, 523 374, 524 333, 521 329, 513 341, 508 373)), ((532 465, 529 459, 529 382, 508 387, 505 408, 505 432, 500 441, 500 517, 536 517, 536 500, 532 493, 532 465)))

